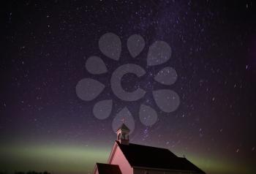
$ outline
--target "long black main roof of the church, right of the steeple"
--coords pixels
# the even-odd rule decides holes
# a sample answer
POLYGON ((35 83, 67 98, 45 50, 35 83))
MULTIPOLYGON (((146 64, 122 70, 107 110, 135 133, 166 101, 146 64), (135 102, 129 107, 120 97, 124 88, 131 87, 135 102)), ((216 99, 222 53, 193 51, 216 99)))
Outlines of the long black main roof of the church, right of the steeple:
POLYGON ((180 158, 166 148, 129 143, 124 145, 116 141, 132 167, 154 168, 162 170, 185 170, 191 173, 204 173, 186 158, 180 158))

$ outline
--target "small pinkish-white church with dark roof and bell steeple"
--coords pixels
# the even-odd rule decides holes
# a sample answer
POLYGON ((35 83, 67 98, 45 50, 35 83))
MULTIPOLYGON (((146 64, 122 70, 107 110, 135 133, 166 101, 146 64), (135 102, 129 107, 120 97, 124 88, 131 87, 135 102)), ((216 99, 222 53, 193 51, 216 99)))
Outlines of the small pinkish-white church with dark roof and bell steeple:
POLYGON ((129 128, 122 124, 117 130, 108 163, 97 163, 94 174, 178 174, 204 173, 186 158, 166 148, 129 143, 129 128))

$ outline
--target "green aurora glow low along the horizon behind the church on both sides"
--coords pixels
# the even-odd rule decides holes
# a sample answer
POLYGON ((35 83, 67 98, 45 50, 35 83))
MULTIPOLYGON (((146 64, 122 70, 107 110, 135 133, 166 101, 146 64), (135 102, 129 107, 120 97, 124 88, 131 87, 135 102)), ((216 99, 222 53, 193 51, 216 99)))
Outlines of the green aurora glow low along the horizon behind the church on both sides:
MULTIPOLYGON (((92 173, 95 162, 107 162, 111 147, 78 145, 12 145, 1 146, 1 170, 44 171, 50 173, 92 173)), ((178 156, 179 153, 175 152, 178 156)), ((206 173, 250 173, 246 165, 238 165, 221 157, 187 154, 187 159, 206 173)))

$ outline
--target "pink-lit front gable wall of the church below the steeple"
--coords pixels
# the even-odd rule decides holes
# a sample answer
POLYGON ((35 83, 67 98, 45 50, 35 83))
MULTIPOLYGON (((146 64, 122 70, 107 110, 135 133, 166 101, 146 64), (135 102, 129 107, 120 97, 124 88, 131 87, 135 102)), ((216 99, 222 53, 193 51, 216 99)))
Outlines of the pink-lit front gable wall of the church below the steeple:
POLYGON ((118 164, 122 174, 132 174, 132 167, 125 158, 123 152, 119 147, 116 148, 116 152, 113 156, 112 162, 110 164, 118 164))

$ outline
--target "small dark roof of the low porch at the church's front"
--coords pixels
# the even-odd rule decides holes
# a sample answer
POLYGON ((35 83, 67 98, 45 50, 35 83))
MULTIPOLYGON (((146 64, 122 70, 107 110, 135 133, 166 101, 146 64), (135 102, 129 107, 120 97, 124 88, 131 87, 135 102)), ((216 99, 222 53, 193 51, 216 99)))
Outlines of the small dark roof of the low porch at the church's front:
POLYGON ((96 163, 99 174, 121 174, 118 165, 96 163))

